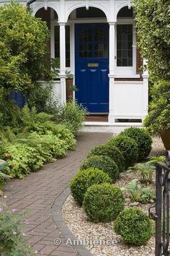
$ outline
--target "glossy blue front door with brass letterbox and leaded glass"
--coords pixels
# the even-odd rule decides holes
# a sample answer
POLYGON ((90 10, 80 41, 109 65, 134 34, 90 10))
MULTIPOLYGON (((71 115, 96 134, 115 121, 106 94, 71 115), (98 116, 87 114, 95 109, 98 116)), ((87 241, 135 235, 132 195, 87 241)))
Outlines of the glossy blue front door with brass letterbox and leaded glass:
POLYGON ((109 112, 109 25, 76 24, 76 100, 90 113, 109 112))

